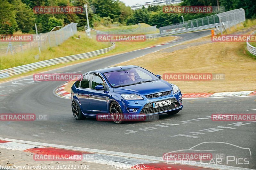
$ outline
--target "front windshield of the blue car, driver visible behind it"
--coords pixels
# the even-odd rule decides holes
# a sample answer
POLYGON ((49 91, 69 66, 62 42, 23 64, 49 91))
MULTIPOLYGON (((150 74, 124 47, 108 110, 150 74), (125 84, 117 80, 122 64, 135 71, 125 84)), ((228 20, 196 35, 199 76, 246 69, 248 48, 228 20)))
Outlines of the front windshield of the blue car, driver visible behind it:
POLYGON ((104 73, 104 75, 112 87, 121 87, 159 80, 154 74, 141 67, 111 71, 104 73))

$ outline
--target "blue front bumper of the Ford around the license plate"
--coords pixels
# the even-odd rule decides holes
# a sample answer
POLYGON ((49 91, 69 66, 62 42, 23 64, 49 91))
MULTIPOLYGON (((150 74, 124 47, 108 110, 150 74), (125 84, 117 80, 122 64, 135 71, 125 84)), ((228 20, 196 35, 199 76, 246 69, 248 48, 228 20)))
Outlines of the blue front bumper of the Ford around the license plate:
POLYGON ((175 94, 165 95, 156 98, 148 99, 145 96, 142 96, 144 100, 122 100, 119 102, 120 107, 122 108, 123 113, 132 114, 133 116, 142 116, 142 115, 155 115, 161 114, 169 111, 181 110, 182 105, 182 94, 177 92, 175 94), (169 100, 171 99, 172 105, 153 108, 152 103, 169 100), (132 110, 135 109, 136 112, 132 110))

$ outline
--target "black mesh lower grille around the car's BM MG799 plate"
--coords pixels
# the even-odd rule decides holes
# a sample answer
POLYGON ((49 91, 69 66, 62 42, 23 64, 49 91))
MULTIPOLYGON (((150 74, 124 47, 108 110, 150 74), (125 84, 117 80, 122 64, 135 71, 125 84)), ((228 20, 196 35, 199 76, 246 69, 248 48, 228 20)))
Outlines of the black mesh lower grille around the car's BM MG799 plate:
POLYGON ((171 103, 172 104, 169 105, 169 106, 156 107, 156 108, 152 107, 152 103, 148 103, 148 104, 145 105, 145 107, 143 107, 143 109, 140 112, 140 115, 147 115, 147 114, 151 114, 151 113, 158 113, 158 112, 172 110, 172 109, 180 107, 180 103, 176 99, 171 99, 171 103), (151 105, 151 107, 148 107, 149 104, 151 105))

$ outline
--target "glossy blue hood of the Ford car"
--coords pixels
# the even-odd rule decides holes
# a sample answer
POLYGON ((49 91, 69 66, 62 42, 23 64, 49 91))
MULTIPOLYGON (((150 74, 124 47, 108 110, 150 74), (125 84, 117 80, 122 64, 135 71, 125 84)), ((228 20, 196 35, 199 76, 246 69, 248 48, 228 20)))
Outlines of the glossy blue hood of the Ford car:
POLYGON ((172 90, 172 85, 170 85, 170 83, 164 80, 114 88, 114 92, 117 93, 135 93, 138 95, 147 95, 170 90, 172 90))

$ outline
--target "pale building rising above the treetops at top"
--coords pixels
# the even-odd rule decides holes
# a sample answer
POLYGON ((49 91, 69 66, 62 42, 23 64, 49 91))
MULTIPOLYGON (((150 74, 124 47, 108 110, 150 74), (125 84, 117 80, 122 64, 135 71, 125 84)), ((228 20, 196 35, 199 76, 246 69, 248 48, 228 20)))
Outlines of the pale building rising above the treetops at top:
POLYGON ((146 2, 144 4, 132 5, 131 9, 132 10, 137 10, 137 9, 142 8, 143 6, 145 8, 148 8, 149 5, 155 6, 155 5, 179 4, 181 2, 182 2, 182 0, 153 0, 153 2, 152 1, 148 1, 148 2, 146 2))

